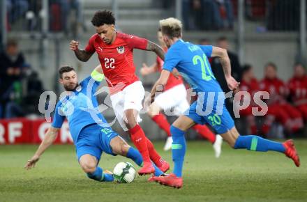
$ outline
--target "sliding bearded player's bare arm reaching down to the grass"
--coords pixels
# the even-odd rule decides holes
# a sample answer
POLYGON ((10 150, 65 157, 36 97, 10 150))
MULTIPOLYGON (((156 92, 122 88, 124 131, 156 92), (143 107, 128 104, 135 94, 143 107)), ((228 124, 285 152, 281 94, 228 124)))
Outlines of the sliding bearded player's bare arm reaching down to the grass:
POLYGON ((30 160, 28 160, 27 164, 24 166, 25 169, 29 170, 35 166, 36 162, 38 162, 38 160, 40 159, 40 156, 48 147, 52 145, 54 140, 57 138, 58 132, 59 128, 56 127, 50 127, 47 130, 42 143, 40 143, 40 146, 36 150, 36 153, 33 155, 33 157, 31 157, 30 160))

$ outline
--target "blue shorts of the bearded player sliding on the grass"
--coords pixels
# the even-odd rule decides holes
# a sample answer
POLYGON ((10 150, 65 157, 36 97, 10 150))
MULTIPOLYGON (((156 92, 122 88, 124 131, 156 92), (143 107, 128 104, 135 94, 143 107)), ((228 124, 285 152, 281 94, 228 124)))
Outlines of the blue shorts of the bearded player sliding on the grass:
POLYGON ((119 134, 114 132, 111 127, 101 127, 99 125, 88 125, 84 127, 75 143, 77 160, 80 160, 82 155, 92 155, 100 160, 103 152, 115 155, 112 152, 110 141, 119 134))

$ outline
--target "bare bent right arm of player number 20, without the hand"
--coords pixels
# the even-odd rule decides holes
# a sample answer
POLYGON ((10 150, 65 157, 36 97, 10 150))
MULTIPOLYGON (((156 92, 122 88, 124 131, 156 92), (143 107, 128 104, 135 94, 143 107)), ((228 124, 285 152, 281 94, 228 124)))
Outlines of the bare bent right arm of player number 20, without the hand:
POLYGON ((213 47, 211 56, 217 56, 219 58, 220 64, 223 67, 225 77, 231 77, 232 70, 227 50, 219 47, 213 47))

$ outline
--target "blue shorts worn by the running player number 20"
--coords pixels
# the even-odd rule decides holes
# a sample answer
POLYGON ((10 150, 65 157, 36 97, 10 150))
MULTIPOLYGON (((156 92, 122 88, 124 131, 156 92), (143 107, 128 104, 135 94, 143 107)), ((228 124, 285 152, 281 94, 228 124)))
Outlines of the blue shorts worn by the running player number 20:
MULTIPOLYGON (((206 104, 204 104, 204 110, 202 111, 206 111, 205 107, 206 104)), ((225 104, 223 104, 223 111, 221 114, 216 114, 216 107, 214 106, 212 107, 210 114, 202 115, 200 110, 197 111, 197 101, 195 101, 190 105, 190 109, 188 109, 188 112, 186 112, 185 115, 188 116, 188 118, 191 118, 195 123, 201 125, 209 123, 218 134, 223 134, 234 127, 234 120, 226 109, 225 104)))

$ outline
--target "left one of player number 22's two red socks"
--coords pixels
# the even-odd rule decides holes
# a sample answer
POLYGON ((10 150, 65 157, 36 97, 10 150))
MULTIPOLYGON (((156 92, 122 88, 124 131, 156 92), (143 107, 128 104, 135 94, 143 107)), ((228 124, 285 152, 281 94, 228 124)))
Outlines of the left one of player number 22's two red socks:
POLYGON ((149 149, 147 148, 147 137, 145 137, 144 131, 140 125, 135 125, 135 127, 129 130, 131 141, 133 141, 137 150, 140 151, 143 161, 150 162, 149 149))

